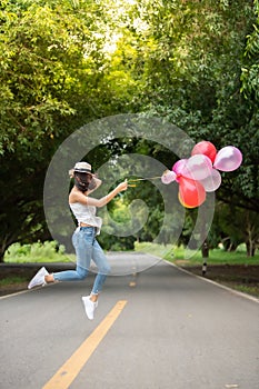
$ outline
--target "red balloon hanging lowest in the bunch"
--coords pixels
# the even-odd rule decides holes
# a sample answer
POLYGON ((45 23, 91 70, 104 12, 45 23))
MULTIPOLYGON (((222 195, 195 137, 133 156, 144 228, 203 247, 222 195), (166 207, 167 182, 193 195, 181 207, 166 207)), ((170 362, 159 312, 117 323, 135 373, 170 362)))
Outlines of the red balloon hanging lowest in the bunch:
POLYGON ((180 177, 179 199, 186 208, 199 207, 206 200, 206 190, 199 181, 180 177))

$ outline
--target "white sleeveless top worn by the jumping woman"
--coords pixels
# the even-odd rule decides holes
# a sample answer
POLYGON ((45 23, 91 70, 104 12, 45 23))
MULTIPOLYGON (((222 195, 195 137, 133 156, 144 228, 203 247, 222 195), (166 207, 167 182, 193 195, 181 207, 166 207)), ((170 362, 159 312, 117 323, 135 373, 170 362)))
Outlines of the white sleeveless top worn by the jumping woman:
POLYGON ((82 222, 82 223, 96 227, 97 235, 100 233, 102 219, 96 216, 96 211, 97 211, 96 207, 86 206, 80 202, 72 202, 69 206, 78 221, 78 226, 80 226, 80 223, 82 222))

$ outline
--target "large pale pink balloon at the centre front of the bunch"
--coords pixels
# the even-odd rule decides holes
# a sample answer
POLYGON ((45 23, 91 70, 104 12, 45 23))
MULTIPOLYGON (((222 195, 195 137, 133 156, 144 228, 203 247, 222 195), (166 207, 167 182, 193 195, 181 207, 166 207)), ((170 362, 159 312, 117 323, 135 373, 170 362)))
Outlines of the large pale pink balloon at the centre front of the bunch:
POLYGON ((182 168, 181 174, 192 180, 203 180, 211 174, 212 162, 209 157, 203 154, 195 154, 190 157, 185 167, 182 168))

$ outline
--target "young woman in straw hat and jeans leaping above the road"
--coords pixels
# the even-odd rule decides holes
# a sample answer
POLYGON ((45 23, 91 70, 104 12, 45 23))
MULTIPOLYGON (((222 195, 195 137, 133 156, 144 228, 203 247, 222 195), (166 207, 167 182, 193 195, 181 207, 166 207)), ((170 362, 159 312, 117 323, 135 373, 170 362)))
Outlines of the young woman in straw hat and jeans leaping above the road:
POLYGON ((102 290, 107 275, 110 272, 110 266, 103 250, 96 239, 102 225, 101 218, 96 216, 96 208, 106 206, 119 192, 127 190, 128 183, 123 181, 107 196, 96 199, 89 197, 89 194, 101 184, 101 180, 91 172, 91 164, 87 162, 76 163, 74 168, 70 170, 71 176, 74 179, 74 186, 69 194, 69 206, 78 221, 78 228, 72 236, 77 255, 77 268, 76 270, 51 275, 46 268, 41 268, 30 281, 28 288, 31 289, 54 281, 83 280, 89 273, 92 259, 98 268, 98 273, 90 296, 82 297, 87 317, 92 320, 98 306, 99 293, 102 290))

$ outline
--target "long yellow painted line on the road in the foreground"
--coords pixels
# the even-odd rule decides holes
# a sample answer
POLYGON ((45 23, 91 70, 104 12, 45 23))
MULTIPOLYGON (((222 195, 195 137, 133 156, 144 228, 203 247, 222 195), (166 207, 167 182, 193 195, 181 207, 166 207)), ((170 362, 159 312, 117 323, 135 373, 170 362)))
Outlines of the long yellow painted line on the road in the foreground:
POLYGON ((84 342, 74 351, 74 353, 61 366, 54 376, 43 386, 42 389, 67 389, 78 376, 82 367, 87 363, 92 352, 104 338, 113 322, 118 319, 124 306, 126 300, 118 301, 107 317, 88 337, 84 342))

